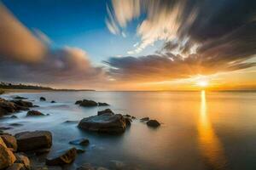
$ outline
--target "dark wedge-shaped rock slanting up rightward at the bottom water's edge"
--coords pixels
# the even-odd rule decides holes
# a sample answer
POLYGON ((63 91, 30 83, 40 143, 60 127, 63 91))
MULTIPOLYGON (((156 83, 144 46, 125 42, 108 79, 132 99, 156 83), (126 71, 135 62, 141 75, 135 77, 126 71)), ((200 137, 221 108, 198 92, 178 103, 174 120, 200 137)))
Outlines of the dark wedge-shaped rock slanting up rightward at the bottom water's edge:
POLYGON ((54 156, 53 158, 46 158, 45 164, 49 166, 69 164, 74 161, 76 156, 77 150, 75 148, 72 148, 61 153, 59 156, 54 156))

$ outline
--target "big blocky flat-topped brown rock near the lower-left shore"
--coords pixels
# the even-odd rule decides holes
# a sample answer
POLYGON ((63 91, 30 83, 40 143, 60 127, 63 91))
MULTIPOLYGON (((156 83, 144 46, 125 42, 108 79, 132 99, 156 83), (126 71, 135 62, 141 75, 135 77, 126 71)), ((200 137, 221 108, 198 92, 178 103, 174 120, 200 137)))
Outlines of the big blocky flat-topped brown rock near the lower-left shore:
POLYGON ((49 131, 33 131, 15 134, 18 150, 38 150, 50 148, 52 144, 52 135, 49 131))

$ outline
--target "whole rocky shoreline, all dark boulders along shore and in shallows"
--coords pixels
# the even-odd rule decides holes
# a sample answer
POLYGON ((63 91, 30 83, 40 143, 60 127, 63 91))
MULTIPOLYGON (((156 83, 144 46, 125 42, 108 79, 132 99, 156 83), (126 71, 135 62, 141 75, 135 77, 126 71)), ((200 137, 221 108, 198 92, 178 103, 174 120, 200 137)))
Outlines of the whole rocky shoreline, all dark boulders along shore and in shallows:
MULTIPOLYGON (((0 98, 0 116, 15 117, 15 113, 19 111, 27 111, 26 116, 47 116, 40 111, 35 111, 34 108, 38 105, 33 105, 31 101, 25 101, 23 97, 15 96, 14 99, 7 100, 0 98)), ((44 97, 39 99, 46 101, 44 97)), ((55 103, 55 101, 50 102, 55 103)), ((75 105, 80 107, 100 107, 108 106, 107 103, 96 102, 89 99, 78 100, 75 105)), ((98 111, 96 116, 85 117, 78 123, 78 127, 84 131, 94 133, 108 133, 116 135, 125 133, 127 127, 131 126, 135 116, 115 114, 110 109, 98 111)), ((150 120, 148 117, 140 119, 148 127, 159 127, 160 122, 150 120)), ((18 125, 17 125, 18 126, 18 125)), ((0 169, 6 170, 47 170, 56 169, 55 166, 62 167, 63 165, 72 163, 78 154, 84 154, 85 150, 76 148, 77 145, 87 146, 90 144, 89 139, 75 139, 69 142, 73 147, 67 150, 58 152, 55 156, 46 156, 44 165, 32 165, 30 159, 36 158, 42 154, 47 154, 52 146, 52 133, 44 129, 38 131, 26 131, 16 134, 4 133, 5 128, 0 128, 0 169)), ((33 163, 34 164, 34 163, 33 163)), ((107 169, 106 167, 93 167, 89 163, 81 165, 78 170, 85 169, 107 169)))

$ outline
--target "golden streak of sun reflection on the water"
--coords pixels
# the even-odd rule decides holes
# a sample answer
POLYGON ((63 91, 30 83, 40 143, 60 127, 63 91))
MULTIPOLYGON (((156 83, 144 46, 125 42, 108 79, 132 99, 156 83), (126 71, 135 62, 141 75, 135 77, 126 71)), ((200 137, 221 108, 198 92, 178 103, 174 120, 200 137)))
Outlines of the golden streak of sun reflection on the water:
POLYGON ((207 115, 206 92, 201 91, 201 111, 198 122, 199 145, 204 163, 209 169, 226 169, 224 149, 207 115))

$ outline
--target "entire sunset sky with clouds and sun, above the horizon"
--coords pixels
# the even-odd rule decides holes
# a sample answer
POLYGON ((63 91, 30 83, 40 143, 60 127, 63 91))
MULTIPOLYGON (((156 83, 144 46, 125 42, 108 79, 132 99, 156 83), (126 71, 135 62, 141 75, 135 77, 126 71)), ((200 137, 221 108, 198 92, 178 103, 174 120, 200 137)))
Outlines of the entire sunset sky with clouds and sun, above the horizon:
POLYGON ((0 81, 256 89, 253 0, 0 0, 0 81))

